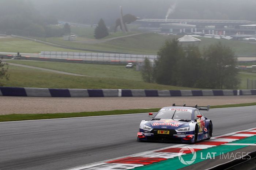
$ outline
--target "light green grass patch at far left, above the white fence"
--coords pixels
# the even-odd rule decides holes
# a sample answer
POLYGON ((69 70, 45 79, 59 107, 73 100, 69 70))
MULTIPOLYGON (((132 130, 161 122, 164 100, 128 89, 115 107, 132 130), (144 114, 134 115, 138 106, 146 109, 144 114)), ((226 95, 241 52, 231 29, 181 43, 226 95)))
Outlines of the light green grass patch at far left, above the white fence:
MULTIPOLYGON (((20 38, 0 38, 0 51, 10 53, 41 53, 41 51, 69 51, 75 52, 78 50, 69 50, 58 47, 45 45, 42 43, 34 42, 31 40, 25 40, 20 38)), ((84 52, 84 51, 80 51, 84 52)))

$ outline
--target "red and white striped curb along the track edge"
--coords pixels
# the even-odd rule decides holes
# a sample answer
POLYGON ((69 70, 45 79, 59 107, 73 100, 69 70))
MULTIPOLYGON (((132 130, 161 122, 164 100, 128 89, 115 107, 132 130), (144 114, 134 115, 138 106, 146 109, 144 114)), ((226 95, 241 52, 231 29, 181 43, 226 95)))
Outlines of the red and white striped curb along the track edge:
MULTIPOLYGON (((178 153, 182 148, 193 148, 195 151, 200 151, 206 148, 215 147, 219 145, 232 145, 229 142, 244 139, 256 135, 256 128, 233 132, 217 137, 210 140, 203 140, 196 144, 177 144, 170 147, 165 147, 158 150, 142 152, 139 154, 129 155, 125 157, 110 159, 107 161, 92 163, 88 165, 74 167, 68 170, 127 170, 134 169, 144 165, 150 165, 155 162, 161 162, 166 159, 178 157, 178 153)), ((236 145, 256 145, 256 144, 236 144, 236 145)), ((191 153, 184 151, 183 154, 191 153)))

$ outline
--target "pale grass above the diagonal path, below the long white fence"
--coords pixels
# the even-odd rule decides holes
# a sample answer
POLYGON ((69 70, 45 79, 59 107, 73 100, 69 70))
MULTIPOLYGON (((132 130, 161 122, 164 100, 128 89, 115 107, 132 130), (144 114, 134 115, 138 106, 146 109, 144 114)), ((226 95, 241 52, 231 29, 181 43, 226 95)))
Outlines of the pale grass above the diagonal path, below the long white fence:
MULTIPOLYGON (((38 62, 38 61, 14 61, 9 60, 10 63, 17 63, 35 67, 41 67, 46 69, 58 70, 68 73, 82 74, 86 76, 98 77, 98 78, 113 78, 114 80, 120 79, 121 81, 129 80, 140 84, 140 89, 144 89, 142 86, 143 80, 141 73, 134 69, 126 69, 124 66, 118 65, 93 65, 93 64, 76 64, 76 63, 58 63, 58 62, 38 62)), ((252 73, 239 73, 239 79, 241 84, 238 89, 247 88, 247 79, 256 80, 256 74, 252 73)), ((146 84, 145 84, 146 85, 146 84)), ((138 86, 138 87, 139 87, 138 86)), ((127 86, 125 86, 127 87, 127 86)), ((136 86, 133 85, 135 88, 136 86)), ((157 84, 152 84, 152 88, 157 88, 157 84)), ((173 86, 165 86, 166 88, 172 88, 173 86)), ((147 86, 150 89, 150 87, 147 86)), ((159 88, 163 88, 163 85, 159 85, 159 88)), ((181 87, 180 87, 181 88, 181 87)), ((185 89, 185 88, 182 88, 185 89)), ((187 88, 188 89, 188 88, 187 88)), ((192 88, 189 88, 192 89, 192 88)))

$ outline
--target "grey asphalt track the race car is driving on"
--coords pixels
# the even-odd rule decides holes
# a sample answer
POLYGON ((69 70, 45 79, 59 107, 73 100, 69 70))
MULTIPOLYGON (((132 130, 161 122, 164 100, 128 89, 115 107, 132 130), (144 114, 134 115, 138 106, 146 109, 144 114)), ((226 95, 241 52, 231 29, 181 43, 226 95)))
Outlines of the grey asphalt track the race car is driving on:
MULTIPOLYGON (((214 136, 256 127, 256 106, 203 111, 214 136)), ((148 115, 115 115, 0 123, 1 170, 60 170, 172 146, 137 142, 148 115)))

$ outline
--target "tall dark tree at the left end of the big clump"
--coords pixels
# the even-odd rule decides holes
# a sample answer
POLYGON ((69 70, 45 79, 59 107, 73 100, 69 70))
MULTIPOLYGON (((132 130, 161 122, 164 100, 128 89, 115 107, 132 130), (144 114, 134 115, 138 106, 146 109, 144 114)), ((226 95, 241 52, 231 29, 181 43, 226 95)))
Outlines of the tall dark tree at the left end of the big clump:
POLYGON ((178 73, 178 60, 184 56, 182 47, 178 40, 167 40, 165 45, 158 51, 158 58, 155 61, 154 78, 158 84, 176 85, 178 73))

